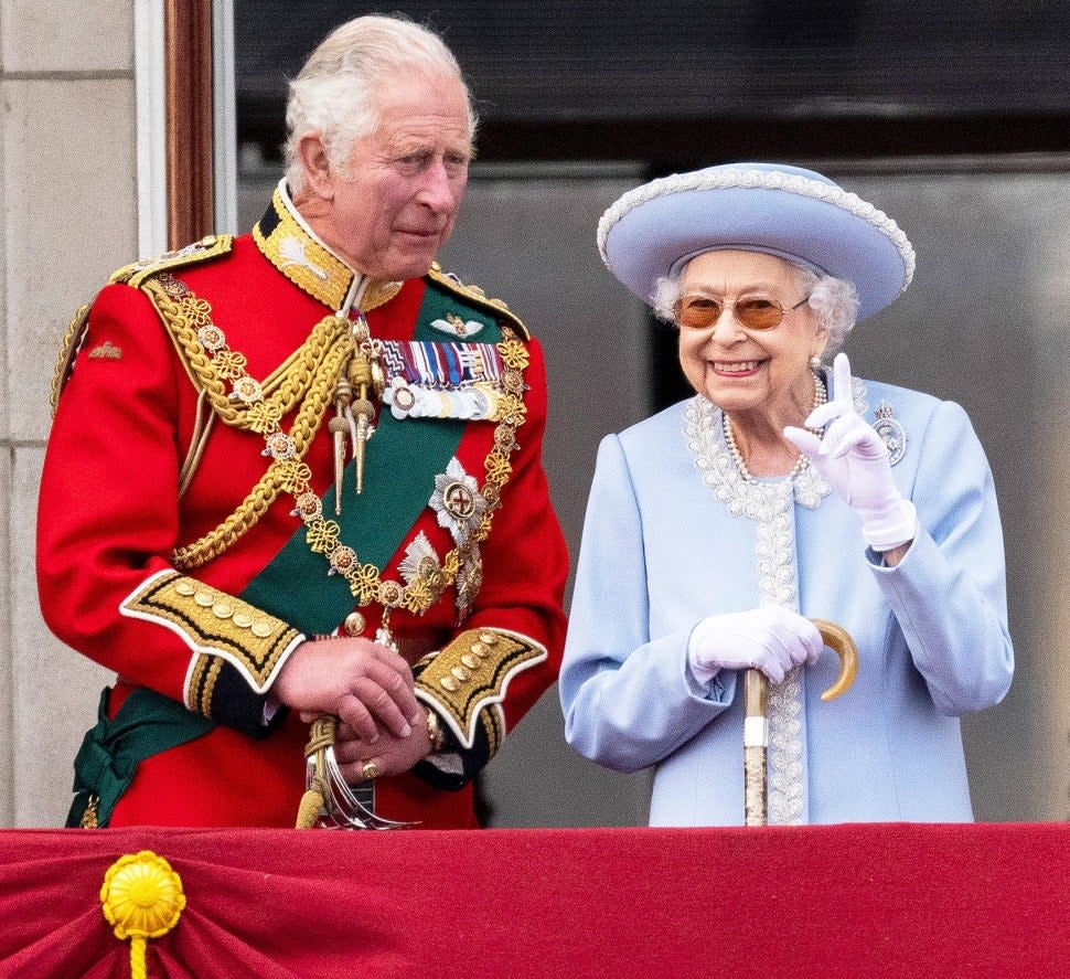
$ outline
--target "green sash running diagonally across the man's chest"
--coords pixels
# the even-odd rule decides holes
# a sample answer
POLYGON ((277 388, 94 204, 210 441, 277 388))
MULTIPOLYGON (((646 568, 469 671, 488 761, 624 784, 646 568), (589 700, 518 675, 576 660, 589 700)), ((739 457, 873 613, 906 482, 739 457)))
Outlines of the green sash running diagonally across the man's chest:
MULTIPOLYGON (((501 331, 485 312, 427 284, 417 313, 415 340, 442 342, 449 337, 428 326, 448 312, 484 323, 481 343, 496 343, 501 331)), ((323 515, 341 528, 341 540, 362 564, 384 567, 428 506, 435 476, 456 455, 468 423, 459 419, 406 418, 379 412, 364 457, 364 489, 356 494, 354 464, 345 468, 342 513, 334 514, 334 488, 323 497, 323 515)), ((306 635, 333 632, 355 605, 341 575, 328 575, 322 554, 309 549, 301 525, 271 562, 245 587, 240 598, 289 622, 306 635)))

